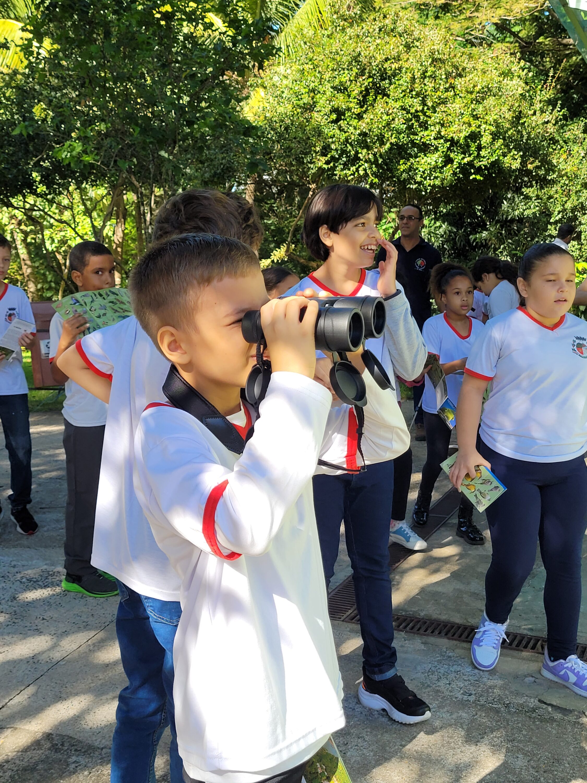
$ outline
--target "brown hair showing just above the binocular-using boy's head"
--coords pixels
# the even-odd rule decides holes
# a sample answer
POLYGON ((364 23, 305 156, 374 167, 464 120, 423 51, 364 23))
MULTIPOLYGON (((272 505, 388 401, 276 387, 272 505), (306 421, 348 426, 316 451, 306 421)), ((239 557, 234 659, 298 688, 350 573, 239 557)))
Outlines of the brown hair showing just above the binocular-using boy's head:
POLYGON ((243 240, 243 217, 234 200, 219 190, 184 190, 159 208, 153 242, 189 233, 218 234, 243 240))

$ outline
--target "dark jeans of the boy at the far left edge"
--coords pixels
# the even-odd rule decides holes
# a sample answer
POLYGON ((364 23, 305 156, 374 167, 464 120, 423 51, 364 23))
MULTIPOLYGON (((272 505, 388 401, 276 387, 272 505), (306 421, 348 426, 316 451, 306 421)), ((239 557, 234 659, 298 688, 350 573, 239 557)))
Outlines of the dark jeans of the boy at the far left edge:
POLYGON ((0 420, 10 461, 10 489, 12 508, 31 503, 31 430, 28 424, 28 395, 0 395, 0 420))

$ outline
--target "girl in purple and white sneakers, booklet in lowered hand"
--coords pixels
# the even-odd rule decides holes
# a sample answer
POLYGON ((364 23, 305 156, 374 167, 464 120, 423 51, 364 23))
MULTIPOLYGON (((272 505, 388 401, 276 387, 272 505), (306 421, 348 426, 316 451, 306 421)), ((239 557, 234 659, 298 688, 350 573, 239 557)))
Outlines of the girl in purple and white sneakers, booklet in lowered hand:
POLYGON ((492 562, 471 655, 477 669, 498 662, 538 540, 546 568, 541 673, 587 697, 587 663, 575 655, 587 507, 587 325, 568 312, 575 272, 567 251, 535 245, 524 254, 519 275, 525 305, 484 328, 466 363, 456 413, 459 453, 452 483, 459 488, 466 473, 484 465, 507 488, 487 509, 492 562))

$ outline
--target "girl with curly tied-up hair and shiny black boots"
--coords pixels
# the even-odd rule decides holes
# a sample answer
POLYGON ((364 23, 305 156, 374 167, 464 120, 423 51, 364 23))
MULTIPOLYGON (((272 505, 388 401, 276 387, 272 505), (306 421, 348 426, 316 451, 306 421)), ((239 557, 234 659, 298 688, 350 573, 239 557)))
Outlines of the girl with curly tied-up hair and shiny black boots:
MULTIPOLYGON (((446 263, 435 266, 430 276, 430 293, 444 305, 445 312, 429 318, 424 323, 422 334, 428 351, 438 356, 446 376, 448 399, 456 405, 463 376, 455 373, 465 369, 466 358, 484 325, 467 316, 473 306, 474 284, 470 272, 463 266, 446 263)), ((427 455, 412 515, 414 525, 426 525, 428 521, 432 490, 441 472, 441 462, 448 456, 452 431, 446 420, 438 415, 441 401, 437 399, 429 377, 426 377, 425 384, 422 407, 427 455)), ((477 546, 485 543, 483 533, 473 521, 473 506, 465 496, 459 507, 456 535, 477 546)))

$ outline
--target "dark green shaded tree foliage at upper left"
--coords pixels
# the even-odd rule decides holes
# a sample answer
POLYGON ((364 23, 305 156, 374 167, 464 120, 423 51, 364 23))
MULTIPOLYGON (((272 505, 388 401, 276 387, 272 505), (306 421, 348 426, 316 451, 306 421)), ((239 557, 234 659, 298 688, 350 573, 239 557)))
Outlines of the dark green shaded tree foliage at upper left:
POLYGON ((130 207, 142 251, 165 197, 246 175, 243 79, 272 49, 239 0, 45 2, 21 51, 26 66, 2 79, 0 200, 35 240, 39 223, 68 241, 101 240, 111 220, 124 235, 130 207))

